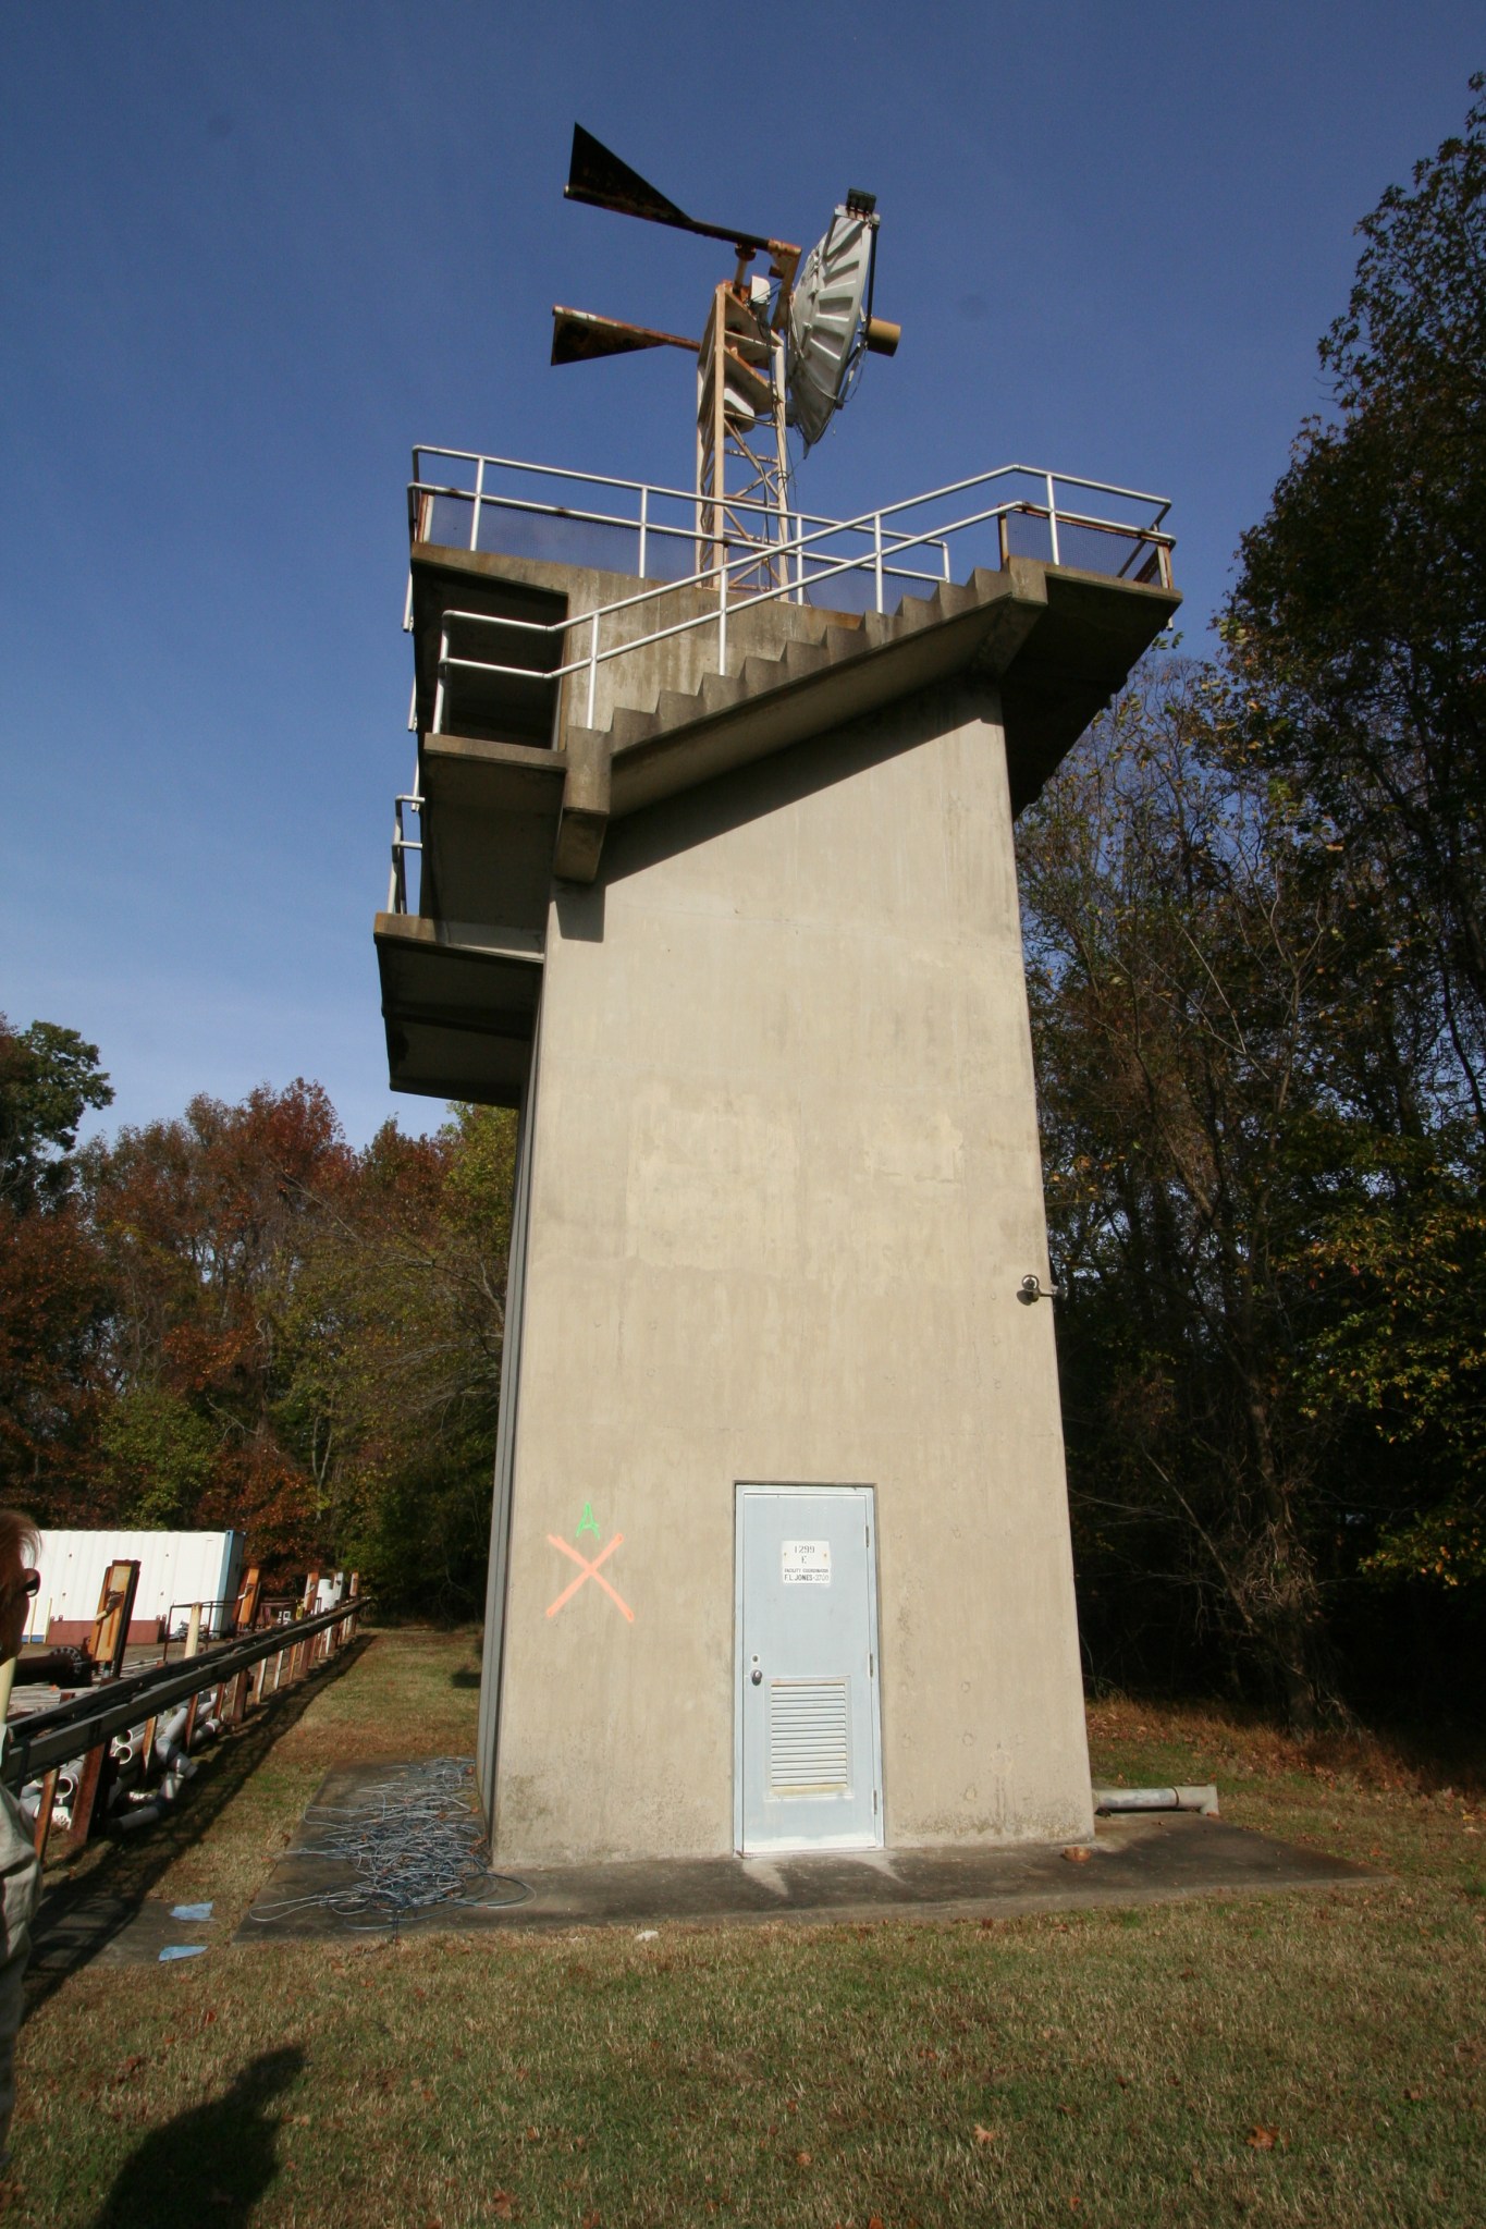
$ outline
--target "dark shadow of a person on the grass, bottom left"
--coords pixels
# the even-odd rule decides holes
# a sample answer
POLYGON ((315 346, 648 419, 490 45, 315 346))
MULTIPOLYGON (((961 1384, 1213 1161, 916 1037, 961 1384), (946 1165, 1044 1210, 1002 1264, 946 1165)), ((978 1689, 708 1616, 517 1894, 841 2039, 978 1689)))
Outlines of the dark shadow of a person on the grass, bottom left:
POLYGON ((180 2229, 250 2222, 278 2176, 274 2097, 303 2071, 299 2044, 252 2060, 214 2104, 176 2113, 114 2176, 89 2229, 180 2229))

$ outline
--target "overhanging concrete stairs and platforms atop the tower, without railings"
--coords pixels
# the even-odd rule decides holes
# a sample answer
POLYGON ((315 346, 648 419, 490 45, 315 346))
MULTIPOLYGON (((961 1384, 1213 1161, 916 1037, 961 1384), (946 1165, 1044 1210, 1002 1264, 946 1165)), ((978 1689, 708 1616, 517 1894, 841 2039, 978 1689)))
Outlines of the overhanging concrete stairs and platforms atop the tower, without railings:
POLYGON ((512 974, 512 954, 470 938, 468 925, 539 941, 553 883, 599 878, 613 820, 976 678, 1000 691, 1011 809, 1023 811, 1181 602, 1145 582, 1011 557, 891 613, 744 604, 729 611, 729 666, 717 671, 715 595, 666 588, 613 624, 630 640, 677 617, 702 624, 606 660, 590 716, 586 671, 553 680, 581 653, 584 629, 564 637, 530 626, 648 586, 537 557, 414 546, 421 914, 377 925, 394 1088, 517 1103, 539 952, 512 974), (450 617, 459 613, 521 624, 450 617), (434 733, 446 642, 463 662, 448 671, 434 733), (490 671, 501 664, 524 671, 490 671))

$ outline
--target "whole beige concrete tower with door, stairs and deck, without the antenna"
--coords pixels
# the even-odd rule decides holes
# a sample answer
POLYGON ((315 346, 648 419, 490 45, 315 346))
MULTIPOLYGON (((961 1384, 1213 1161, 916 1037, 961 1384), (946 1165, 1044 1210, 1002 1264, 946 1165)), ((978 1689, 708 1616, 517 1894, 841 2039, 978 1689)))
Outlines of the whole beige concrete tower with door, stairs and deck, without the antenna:
POLYGON ((740 604, 657 490, 414 479, 388 1059, 519 1108, 497 1861, 1087 1834, 1014 820, 1170 542, 987 475, 998 564, 878 517, 740 604))

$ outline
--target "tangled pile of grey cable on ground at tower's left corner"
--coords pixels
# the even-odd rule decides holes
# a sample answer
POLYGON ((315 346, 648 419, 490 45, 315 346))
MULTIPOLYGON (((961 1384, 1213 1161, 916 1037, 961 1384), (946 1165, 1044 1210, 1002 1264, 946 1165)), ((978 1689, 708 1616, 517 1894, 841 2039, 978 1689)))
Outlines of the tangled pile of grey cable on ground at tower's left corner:
POLYGON ((350 1866, 354 1881, 258 1904, 252 1917, 270 1921, 319 1908, 352 1926, 397 1928, 434 1906, 501 1910, 526 1904, 532 1895, 526 1881, 486 1872, 486 1837, 470 1808, 472 1777, 463 1756, 430 1756, 365 1788, 356 1803, 312 1803, 305 1812, 312 1841, 285 1855, 350 1866), (475 1881, 515 1895, 470 1895, 475 1881))

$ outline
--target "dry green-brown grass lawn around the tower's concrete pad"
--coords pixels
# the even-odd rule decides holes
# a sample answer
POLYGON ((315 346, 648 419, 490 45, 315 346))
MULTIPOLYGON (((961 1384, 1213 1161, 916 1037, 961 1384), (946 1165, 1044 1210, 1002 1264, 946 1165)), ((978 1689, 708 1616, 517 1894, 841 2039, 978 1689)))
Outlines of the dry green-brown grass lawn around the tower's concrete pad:
POLYGON ((1370 1890, 994 1924, 232 1948, 332 1763, 468 1752, 470 1636, 385 1632, 183 1814, 78 1861, 212 1897, 176 1966, 42 1993, 9 2218, 586 2229, 1486 2220, 1486 1799, 1379 1743, 1098 1703, 1094 1770, 1370 1890), (1464 1790, 1464 1792, 1461 1792, 1464 1790))

